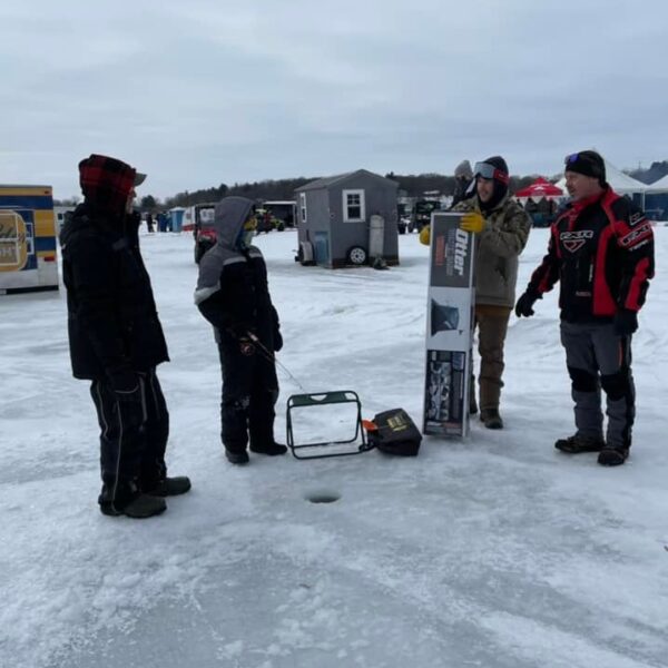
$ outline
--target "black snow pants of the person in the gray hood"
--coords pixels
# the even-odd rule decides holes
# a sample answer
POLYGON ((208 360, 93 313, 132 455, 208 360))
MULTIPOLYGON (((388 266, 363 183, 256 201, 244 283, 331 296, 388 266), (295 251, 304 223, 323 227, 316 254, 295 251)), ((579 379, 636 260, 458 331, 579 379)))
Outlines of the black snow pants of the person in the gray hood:
POLYGON ((274 405, 278 399, 276 366, 259 350, 242 354, 236 341, 218 343, 223 373, 220 439, 226 450, 243 452, 274 442, 274 405))

